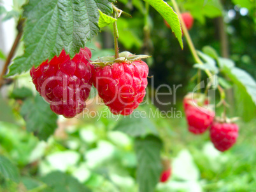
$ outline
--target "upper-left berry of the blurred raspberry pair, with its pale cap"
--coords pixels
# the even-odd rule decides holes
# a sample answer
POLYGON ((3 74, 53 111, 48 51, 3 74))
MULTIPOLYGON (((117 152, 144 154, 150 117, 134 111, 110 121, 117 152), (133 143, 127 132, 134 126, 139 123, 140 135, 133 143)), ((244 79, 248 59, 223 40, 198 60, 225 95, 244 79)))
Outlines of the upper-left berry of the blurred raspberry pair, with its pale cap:
POLYGON ((211 109, 200 107, 208 104, 208 99, 204 99, 203 95, 198 93, 194 93, 194 95, 196 98, 192 98, 192 94, 189 93, 183 100, 188 130, 193 134, 203 134, 213 122, 215 113, 211 109))

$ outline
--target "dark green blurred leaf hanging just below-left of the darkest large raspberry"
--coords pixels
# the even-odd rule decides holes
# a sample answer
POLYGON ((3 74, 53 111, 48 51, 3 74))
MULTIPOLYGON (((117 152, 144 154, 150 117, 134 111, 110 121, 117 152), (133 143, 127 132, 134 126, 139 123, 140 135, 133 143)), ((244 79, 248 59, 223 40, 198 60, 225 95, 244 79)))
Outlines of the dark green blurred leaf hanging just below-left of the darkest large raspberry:
POLYGON ((48 139, 57 128, 57 115, 52 112, 49 104, 39 95, 25 100, 20 114, 24 117, 27 130, 33 132, 39 139, 48 139))

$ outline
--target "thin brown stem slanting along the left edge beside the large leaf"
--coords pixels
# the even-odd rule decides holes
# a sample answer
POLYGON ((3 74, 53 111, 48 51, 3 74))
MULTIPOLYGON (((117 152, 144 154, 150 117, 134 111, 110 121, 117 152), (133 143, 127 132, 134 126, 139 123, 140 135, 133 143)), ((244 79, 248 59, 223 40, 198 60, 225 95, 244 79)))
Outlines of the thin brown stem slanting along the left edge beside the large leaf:
POLYGON ((23 25, 23 23, 24 23, 23 19, 18 20, 18 25, 17 25, 18 34, 15 38, 13 46, 11 47, 11 51, 10 51, 10 53, 9 53, 8 57, 6 58, 6 61, 4 63, 3 71, 0 75, 0 88, 4 85, 4 75, 8 71, 8 66, 11 63, 11 59, 13 58, 13 55, 15 54, 15 51, 17 50, 18 43, 20 42, 20 39, 22 37, 22 33, 23 33, 22 25, 23 25))

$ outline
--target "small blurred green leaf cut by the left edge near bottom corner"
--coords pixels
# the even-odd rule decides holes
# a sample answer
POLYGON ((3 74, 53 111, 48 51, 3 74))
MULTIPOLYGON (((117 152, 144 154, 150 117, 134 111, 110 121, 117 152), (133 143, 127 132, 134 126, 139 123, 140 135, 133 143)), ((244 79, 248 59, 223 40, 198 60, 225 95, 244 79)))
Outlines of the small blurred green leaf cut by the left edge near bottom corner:
POLYGON ((0 155, 0 174, 6 179, 11 179, 12 181, 18 182, 20 180, 20 175, 18 173, 18 168, 11 163, 8 158, 0 155))

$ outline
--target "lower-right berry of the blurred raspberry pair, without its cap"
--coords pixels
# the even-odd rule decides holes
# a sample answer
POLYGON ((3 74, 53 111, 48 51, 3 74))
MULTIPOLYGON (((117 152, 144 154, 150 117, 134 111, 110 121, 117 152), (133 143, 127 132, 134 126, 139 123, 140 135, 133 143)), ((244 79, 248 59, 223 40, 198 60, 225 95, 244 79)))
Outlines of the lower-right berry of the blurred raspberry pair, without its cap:
POLYGON ((236 123, 214 121, 210 129, 211 142, 218 151, 226 151, 236 143, 238 130, 236 123))

